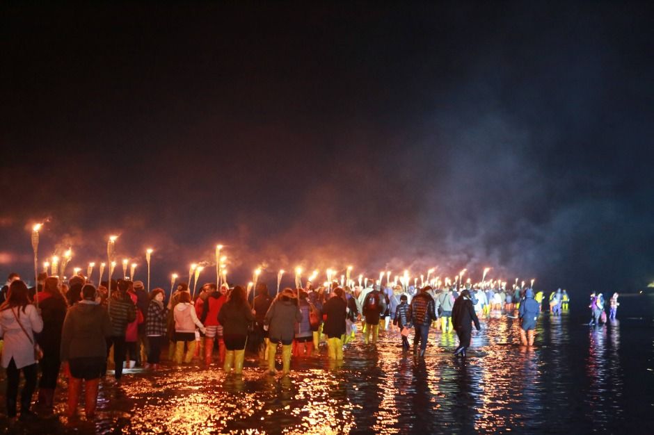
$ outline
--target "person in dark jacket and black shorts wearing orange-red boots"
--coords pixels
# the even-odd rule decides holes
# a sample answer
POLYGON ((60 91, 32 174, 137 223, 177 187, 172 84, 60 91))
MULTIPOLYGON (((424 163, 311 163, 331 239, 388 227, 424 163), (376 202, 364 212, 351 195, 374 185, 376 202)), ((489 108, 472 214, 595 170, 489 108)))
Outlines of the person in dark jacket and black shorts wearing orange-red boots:
POLYGON ((63 322, 61 361, 70 374, 66 411, 69 418, 77 412, 82 380, 86 418, 95 415, 100 377, 106 366, 106 338, 112 333, 109 313, 99 304, 100 300, 95 287, 86 284, 81 290, 81 300, 68 310, 63 322))

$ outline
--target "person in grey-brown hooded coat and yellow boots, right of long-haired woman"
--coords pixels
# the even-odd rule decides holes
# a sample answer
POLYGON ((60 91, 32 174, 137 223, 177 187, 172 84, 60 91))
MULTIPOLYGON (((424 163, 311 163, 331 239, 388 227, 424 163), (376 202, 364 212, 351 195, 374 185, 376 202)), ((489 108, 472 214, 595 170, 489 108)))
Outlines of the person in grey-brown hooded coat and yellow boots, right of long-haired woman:
POLYGON ((295 322, 302 321, 302 313, 298 307, 298 298, 290 288, 285 288, 277 295, 266 313, 265 325, 268 326, 271 348, 268 352, 268 370, 276 374, 276 347, 282 343, 282 374, 288 375, 291 370, 291 352, 295 336, 295 322))

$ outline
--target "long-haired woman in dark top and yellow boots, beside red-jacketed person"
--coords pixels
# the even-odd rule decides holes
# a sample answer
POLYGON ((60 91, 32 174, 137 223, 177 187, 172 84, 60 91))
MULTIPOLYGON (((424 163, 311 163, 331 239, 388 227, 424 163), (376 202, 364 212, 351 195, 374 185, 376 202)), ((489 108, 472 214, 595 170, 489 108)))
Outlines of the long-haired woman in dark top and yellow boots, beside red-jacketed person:
POLYGON ((235 286, 228 293, 227 302, 218 311, 218 322, 223 325, 223 340, 225 341, 225 365, 223 370, 229 373, 234 367, 234 374, 243 372, 245 346, 248 339, 248 327, 255 321, 246 290, 235 286))

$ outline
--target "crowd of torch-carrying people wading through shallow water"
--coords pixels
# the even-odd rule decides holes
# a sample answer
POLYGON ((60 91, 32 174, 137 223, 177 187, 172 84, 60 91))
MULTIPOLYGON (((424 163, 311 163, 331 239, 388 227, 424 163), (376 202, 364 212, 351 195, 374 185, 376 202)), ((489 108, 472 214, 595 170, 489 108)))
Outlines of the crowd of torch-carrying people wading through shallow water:
MULTIPOLYGON (((332 286, 284 288, 275 297, 266 284, 253 294, 241 286, 230 288, 208 283, 197 295, 179 284, 166 301, 166 292, 147 292, 141 281, 118 279, 97 288, 79 275, 67 284, 45 272, 37 286, 27 288, 11 274, 3 288, 0 305, 1 363, 7 371, 6 407, 10 419, 17 416, 20 372, 25 379, 20 394, 20 418, 30 418, 32 395, 37 388, 38 413, 51 413, 60 372, 67 377, 66 414, 77 416, 84 391, 87 418, 95 415, 99 382, 113 368, 120 383, 124 368, 157 370, 168 345, 168 361, 188 364, 194 359, 209 367, 221 363, 226 373, 241 375, 246 350, 267 362, 267 372, 278 372, 281 348, 282 375, 288 375, 291 359, 310 357, 326 341, 328 358, 343 359, 346 343, 362 328, 362 340, 375 345, 379 329, 391 323, 401 336, 401 347, 424 356, 431 329, 442 334, 456 332, 454 355, 465 358, 472 327, 481 329, 479 318, 490 311, 518 311, 520 341, 534 345, 534 331, 543 311, 543 293, 532 288, 507 292, 504 288, 448 286, 416 289, 370 284, 365 288, 332 286), (113 367, 112 367, 113 366, 113 367), (40 379, 38 372, 40 370, 40 379)), ((565 290, 552 292, 550 310, 568 309, 565 290)), ((617 294, 611 299, 616 315, 617 294)), ((591 299, 593 321, 603 312, 603 297, 591 299)))

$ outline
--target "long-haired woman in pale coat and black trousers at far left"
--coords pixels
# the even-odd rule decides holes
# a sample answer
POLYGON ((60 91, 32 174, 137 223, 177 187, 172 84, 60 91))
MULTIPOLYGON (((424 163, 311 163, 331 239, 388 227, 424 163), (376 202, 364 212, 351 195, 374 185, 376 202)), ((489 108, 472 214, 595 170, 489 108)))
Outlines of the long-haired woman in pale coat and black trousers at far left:
POLYGON ((43 329, 43 320, 29 300, 29 290, 23 281, 9 285, 7 299, 0 305, 0 336, 4 339, 2 366, 7 369, 7 416, 16 418, 16 401, 20 371, 25 385, 20 393, 20 418, 33 416, 29 407, 36 387, 34 333, 43 329))

